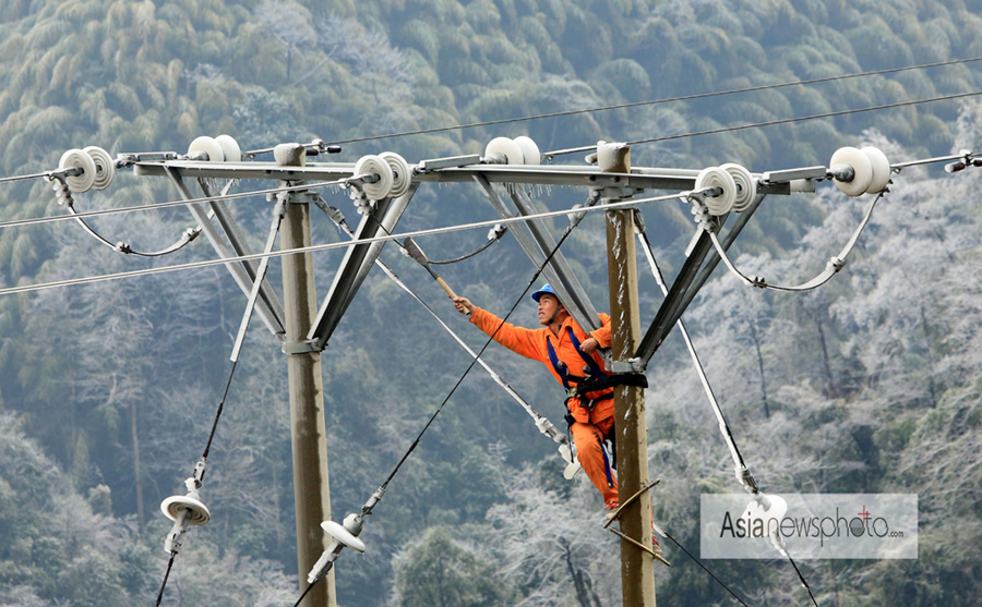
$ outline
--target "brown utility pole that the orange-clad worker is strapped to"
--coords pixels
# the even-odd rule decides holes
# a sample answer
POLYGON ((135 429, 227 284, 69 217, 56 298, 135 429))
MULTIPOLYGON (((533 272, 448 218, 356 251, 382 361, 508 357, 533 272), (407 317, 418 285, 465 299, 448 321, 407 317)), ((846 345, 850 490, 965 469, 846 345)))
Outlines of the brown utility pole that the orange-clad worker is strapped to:
MULTIPOLYGON (((597 161, 606 172, 630 173, 631 148, 599 144, 597 161)), ((640 341, 637 264, 634 256, 634 209, 607 211, 607 263, 610 281, 611 354, 618 362, 634 355, 640 341)), ((616 371, 616 369, 615 369, 616 371)), ((648 439, 645 389, 614 388, 614 433, 618 445, 618 493, 621 503, 648 484, 648 439)), ((640 546, 651 546, 651 500, 632 500, 620 515, 620 531, 640 546)), ((655 607, 655 559, 621 539, 621 586, 624 607, 655 607)))

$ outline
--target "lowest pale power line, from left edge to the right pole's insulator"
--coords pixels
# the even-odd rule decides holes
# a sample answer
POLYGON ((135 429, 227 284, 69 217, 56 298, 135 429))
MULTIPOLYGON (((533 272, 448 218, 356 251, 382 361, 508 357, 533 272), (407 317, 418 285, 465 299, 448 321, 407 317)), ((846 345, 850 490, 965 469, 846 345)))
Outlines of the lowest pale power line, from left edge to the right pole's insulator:
POLYGON ((387 242, 391 240, 403 239, 403 238, 407 238, 407 236, 417 238, 417 236, 427 236, 427 235, 434 235, 434 234, 445 234, 445 233, 452 233, 452 232, 459 232, 459 231, 464 231, 464 230, 474 230, 474 229, 478 229, 478 228, 490 228, 498 223, 515 223, 518 221, 529 221, 532 219, 546 219, 546 218, 559 217, 559 216, 563 216, 563 215, 576 215, 579 213, 591 213, 591 211, 596 211, 596 210, 609 210, 609 209, 624 208, 624 207, 630 207, 630 206, 636 205, 636 204, 670 201, 672 198, 678 198, 679 196, 680 196, 680 194, 668 194, 664 196, 655 196, 651 198, 638 198, 638 199, 624 201, 624 202, 620 202, 620 203, 611 203, 608 205, 596 206, 596 207, 551 210, 551 211, 544 211, 544 213, 520 216, 520 217, 489 219, 487 221, 477 221, 474 223, 462 223, 462 224, 457 224, 457 226, 447 226, 444 228, 430 228, 428 230, 417 230, 415 232, 406 232, 406 233, 402 233, 402 234, 392 234, 392 235, 384 235, 384 236, 372 236, 370 239, 361 239, 361 240, 357 240, 357 241, 314 244, 311 246, 288 248, 286 251, 273 251, 270 253, 253 253, 251 255, 239 255, 236 257, 223 257, 220 259, 206 259, 206 260, 202 260, 202 262, 190 262, 187 264, 176 264, 172 266, 161 266, 161 267, 157 267, 157 268, 144 268, 141 270, 106 274, 106 275, 84 277, 84 278, 70 278, 67 280, 56 280, 52 282, 44 282, 40 284, 8 287, 7 289, 0 289, 0 295, 8 295, 8 294, 13 294, 13 293, 29 293, 33 291, 43 291, 45 289, 53 289, 57 287, 70 287, 73 284, 91 284, 91 283, 103 282, 103 281, 107 281, 107 280, 135 278, 135 277, 140 277, 140 276, 163 274, 163 272, 167 272, 167 271, 206 268, 206 267, 211 267, 211 266, 220 266, 220 265, 231 264, 235 262, 248 262, 248 260, 253 260, 253 259, 262 259, 264 257, 282 257, 284 255, 294 255, 296 253, 330 251, 333 248, 344 248, 344 247, 354 246, 357 244, 371 244, 374 242, 387 242))

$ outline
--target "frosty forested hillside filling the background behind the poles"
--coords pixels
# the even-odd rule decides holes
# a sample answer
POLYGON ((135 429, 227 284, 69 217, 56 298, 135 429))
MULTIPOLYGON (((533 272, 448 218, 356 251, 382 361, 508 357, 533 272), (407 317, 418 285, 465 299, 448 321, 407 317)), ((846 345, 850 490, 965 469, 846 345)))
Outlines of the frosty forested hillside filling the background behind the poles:
MULTIPOLYGON (((393 150, 410 162, 481 153, 494 136, 543 151, 870 108, 982 89, 982 61, 559 118, 396 133, 793 83, 982 57, 982 2, 912 0, 0 0, 0 178, 57 167, 69 148, 184 153, 199 135, 243 149, 344 142, 334 158, 393 150), (369 138, 368 137, 380 137, 369 138), (356 139, 356 141, 352 141, 356 139)), ((977 98, 662 142, 635 166, 755 172, 826 165, 843 145, 891 160, 982 146, 977 98)), ((580 162, 583 154, 558 156, 580 162)), ((334 159, 333 158, 333 159, 334 159)), ((684 319, 734 436, 773 493, 917 493, 920 558, 802 561, 823 605, 969 605, 982 591, 980 220, 982 171, 895 175, 846 269, 807 294, 746 288, 720 267, 684 319)), ((247 182, 238 190, 265 184, 247 182)), ((543 208, 572 189, 530 192, 543 208)), ((344 193, 328 204, 354 222, 344 193)), ((79 210, 177 198, 121 172, 79 210)), ((870 198, 869 196, 866 198, 870 198)), ((817 274, 869 201, 827 184, 773 196, 733 251, 747 272, 817 274)), ((235 203, 260 248, 262 197, 235 203)), ((64 215, 50 184, 0 183, 0 222, 64 215)), ((644 209, 672 275, 694 229, 675 202, 644 209)), ((338 242, 314 216, 314 241, 338 242)), ((399 229, 493 219, 469 184, 424 185, 399 229)), ((182 207, 93 219, 116 242, 163 248, 194 222, 182 207)), ((563 223, 556 221, 556 233, 563 223)), ((607 307, 602 219, 564 253, 607 307)), ((434 258, 474 231, 421 241, 434 258)), ((202 239, 203 240, 203 239, 202 239)), ((323 298, 340 251, 316 255, 323 298)), ((76 224, 0 227, 0 289, 207 259, 195 241, 161 259, 122 256, 76 224)), ((396 271, 479 348, 419 266, 396 271)), ((644 257, 643 323, 661 301, 644 257)), ((278 262, 271 281, 280 284, 278 262)), ((534 268, 511 235, 441 274, 503 314, 534 268)), ((221 267, 0 295, 0 605, 148 604, 166 568, 165 497, 182 493, 208 437, 246 300, 221 267)), ((532 325, 531 303, 515 321, 532 325)), ((538 363, 489 362, 560 424, 562 390, 538 363)), ((467 367, 463 350, 381 274, 322 356, 334 518, 371 495, 467 367)), ((553 444, 476 369, 366 524, 363 557, 337 566, 343 605, 616 605, 616 538, 583 475, 563 481, 553 444)), ((704 493, 732 493, 729 454, 672 335, 648 369, 657 520, 698 548, 704 493)), ((253 320, 202 490, 213 519, 189 534, 165 605, 291 605, 297 593, 285 357, 253 320)), ((728 604, 681 550, 659 569, 668 605, 728 604)), ((791 567, 711 561, 751 604, 805 604, 791 567)), ((306 572, 301 572, 301 575, 306 572)))

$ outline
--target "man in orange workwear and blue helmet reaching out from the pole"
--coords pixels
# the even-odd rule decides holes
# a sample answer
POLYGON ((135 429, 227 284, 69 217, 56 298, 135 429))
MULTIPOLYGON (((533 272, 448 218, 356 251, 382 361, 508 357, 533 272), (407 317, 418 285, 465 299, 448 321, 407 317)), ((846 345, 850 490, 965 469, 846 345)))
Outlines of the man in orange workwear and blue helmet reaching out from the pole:
MULTIPOLYGON (((470 321, 489 336, 493 335, 496 342, 544 364, 567 391, 580 381, 610 375, 597 352, 598 348, 610 347, 610 316, 601 314, 602 326, 587 333, 573 320, 551 286, 546 284, 532 293, 532 299, 539 304, 539 324, 542 325, 539 329, 508 323, 502 325, 501 318, 475 306, 467 298, 454 299, 454 305, 462 314, 469 311, 470 321)), ((603 449, 603 441, 613 438, 613 388, 587 392, 585 397, 570 393, 566 422, 576 444, 579 464, 603 496, 604 507, 616 508, 618 481, 603 449)))

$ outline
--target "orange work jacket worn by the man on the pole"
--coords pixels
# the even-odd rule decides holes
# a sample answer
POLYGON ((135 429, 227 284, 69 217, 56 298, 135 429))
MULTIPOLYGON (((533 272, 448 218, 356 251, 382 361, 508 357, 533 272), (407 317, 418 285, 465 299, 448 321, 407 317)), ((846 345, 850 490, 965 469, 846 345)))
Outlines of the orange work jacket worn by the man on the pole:
MULTIPOLYGON (((501 318, 477 306, 471 306, 470 308, 470 321, 489 336, 494 333, 494 330, 501 325, 501 318)), ((526 359, 539 361, 546 365, 546 368, 548 368, 549 373, 555 377, 555 380, 562 384, 563 378, 556 372, 555 367, 552 365, 552 360, 549 357, 549 343, 552 342, 555 357, 558 361, 565 364, 568 369, 568 375, 589 377, 589 373, 584 372, 584 367, 587 366, 586 362, 576 351, 576 345, 573 343, 573 340, 570 339, 570 328, 573 329, 573 335, 576 336, 576 339, 580 343, 592 337, 601 348, 610 348, 610 316, 600 314, 600 323, 601 327, 599 329, 587 333, 575 320, 573 320, 572 316, 568 316, 563 321, 559 336, 553 335, 549 327, 527 329, 525 327, 516 327, 511 323, 505 323, 502 325, 501 329, 498 329, 498 333, 494 335, 494 341, 517 354, 522 354, 526 359)), ((594 353, 586 355, 592 359, 603 373, 609 373, 604 368, 603 359, 598 352, 595 351, 594 353)), ((570 385, 575 386, 576 381, 571 379, 570 385)), ((588 392, 586 396, 589 400, 596 401, 598 398, 609 394, 610 392, 613 392, 613 388, 588 392)), ((566 401, 566 409, 570 411, 570 414, 573 415, 573 418, 585 424, 596 424, 613 416, 614 409, 612 398, 595 402, 592 412, 587 409, 586 404, 587 403, 582 402, 580 399, 571 398, 566 401)))

